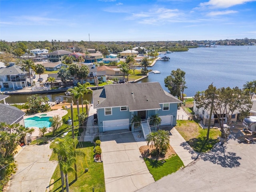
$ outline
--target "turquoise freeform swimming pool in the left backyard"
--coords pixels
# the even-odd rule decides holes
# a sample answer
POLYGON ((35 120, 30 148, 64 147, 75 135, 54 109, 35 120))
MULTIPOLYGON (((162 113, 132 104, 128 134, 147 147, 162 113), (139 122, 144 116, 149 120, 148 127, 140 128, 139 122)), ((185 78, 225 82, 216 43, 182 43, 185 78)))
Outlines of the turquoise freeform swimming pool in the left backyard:
POLYGON ((24 120, 25 127, 38 127, 38 128, 49 128, 51 126, 51 122, 49 121, 52 117, 30 117, 24 120))

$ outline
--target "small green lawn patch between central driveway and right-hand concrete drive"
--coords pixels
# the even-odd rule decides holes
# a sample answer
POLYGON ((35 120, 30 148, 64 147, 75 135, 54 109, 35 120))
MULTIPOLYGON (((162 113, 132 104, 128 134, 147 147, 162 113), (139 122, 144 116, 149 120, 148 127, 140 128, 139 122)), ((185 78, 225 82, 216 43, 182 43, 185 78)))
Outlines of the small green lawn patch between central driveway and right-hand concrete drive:
POLYGON ((168 174, 176 172, 180 169, 180 167, 184 166, 182 160, 178 155, 166 159, 165 163, 162 163, 162 160, 151 160, 149 158, 144 158, 144 161, 155 181, 168 174))

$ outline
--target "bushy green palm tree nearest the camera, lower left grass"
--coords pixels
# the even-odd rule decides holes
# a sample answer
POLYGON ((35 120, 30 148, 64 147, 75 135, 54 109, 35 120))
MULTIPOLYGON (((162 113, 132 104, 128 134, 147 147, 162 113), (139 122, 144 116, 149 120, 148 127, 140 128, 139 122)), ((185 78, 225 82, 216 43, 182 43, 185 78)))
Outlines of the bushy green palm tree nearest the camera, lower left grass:
MULTIPOLYGON (((65 183, 66 183, 66 191, 69 192, 69 184, 68 184, 68 173, 76 172, 76 170, 72 167, 76 163, 77 156, 85 156, 84 152, 76 149, 76 145, 78 144, 78 140, 63 140, 60 141, 59 144, 53 148, 53 152, 58 154, 58 162, 60 166, 61 175, 63 178, 63 173, 65 174, 65 183)), ((64 183, 62 183, 63 189, 64 183)))

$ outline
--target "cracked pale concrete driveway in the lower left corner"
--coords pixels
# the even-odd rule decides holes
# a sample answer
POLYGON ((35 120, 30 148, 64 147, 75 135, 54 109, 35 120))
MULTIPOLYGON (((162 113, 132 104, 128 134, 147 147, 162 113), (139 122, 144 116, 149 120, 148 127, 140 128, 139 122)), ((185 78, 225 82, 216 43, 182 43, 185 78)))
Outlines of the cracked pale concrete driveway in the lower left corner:
POLYGON ((16 156, 18 170, 8 183, 7 192, 45 192, 57 161, 49 161, 50 144, 25 146, 16 156))

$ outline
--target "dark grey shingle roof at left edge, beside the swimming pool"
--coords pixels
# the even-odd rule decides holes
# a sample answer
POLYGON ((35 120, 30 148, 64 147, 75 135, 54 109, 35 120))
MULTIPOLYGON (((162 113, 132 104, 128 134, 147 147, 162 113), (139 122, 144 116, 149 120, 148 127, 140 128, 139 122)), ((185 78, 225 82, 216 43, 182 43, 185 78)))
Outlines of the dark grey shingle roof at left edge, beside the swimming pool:
POLYGON ((22 110, 0 103, 0 122, 11 125, 24 115, 25 113, 22 110))

